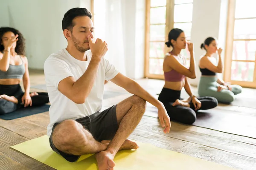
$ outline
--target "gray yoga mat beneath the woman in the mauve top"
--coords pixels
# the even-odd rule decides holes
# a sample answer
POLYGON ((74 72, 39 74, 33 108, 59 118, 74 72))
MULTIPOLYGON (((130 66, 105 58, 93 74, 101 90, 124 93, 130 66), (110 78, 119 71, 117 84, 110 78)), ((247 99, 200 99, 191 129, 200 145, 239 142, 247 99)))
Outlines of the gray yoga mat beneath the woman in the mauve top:
MULTIPOLYGON (((144 115, 157 118, 157 109, 148 106, 144 115)), ((197 120, 193 125, 256 139, 256 113, 220 109, 198 111, 197 120)))

